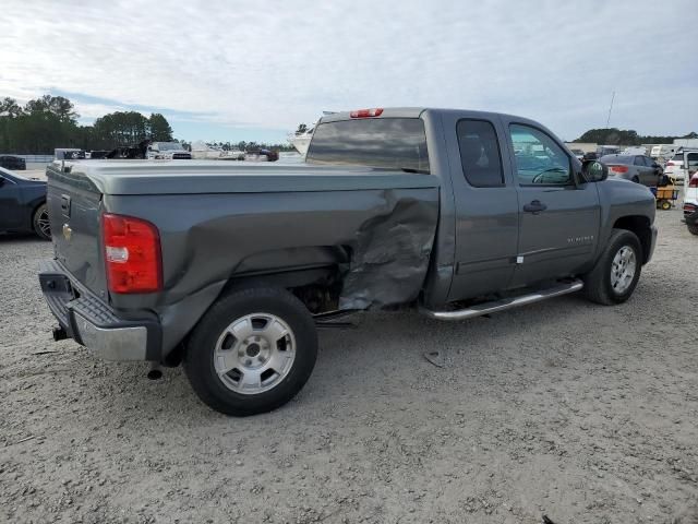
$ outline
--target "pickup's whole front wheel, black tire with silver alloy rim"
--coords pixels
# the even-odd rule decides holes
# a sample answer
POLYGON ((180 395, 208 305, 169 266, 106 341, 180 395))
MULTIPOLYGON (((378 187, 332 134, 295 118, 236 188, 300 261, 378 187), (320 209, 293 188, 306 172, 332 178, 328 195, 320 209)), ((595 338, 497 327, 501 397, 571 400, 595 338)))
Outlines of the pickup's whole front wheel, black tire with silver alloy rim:
POLYGON ((642 270, 642 247, 633 231, 613 229, 597 265, 585 275, 585 294, 597 303, 625 302, 635 290, 642 270))

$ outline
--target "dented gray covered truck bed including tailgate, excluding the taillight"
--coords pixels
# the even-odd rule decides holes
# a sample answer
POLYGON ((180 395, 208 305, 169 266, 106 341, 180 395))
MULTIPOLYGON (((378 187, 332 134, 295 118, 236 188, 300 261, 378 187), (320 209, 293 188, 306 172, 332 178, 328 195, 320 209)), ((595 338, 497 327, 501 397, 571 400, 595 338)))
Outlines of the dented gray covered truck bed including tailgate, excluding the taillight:
POLYGON ((58 263, 121 318, 156 314, 164 355, 240 278, 282 274, 302 284, 311 272, 332 266, 342 274, 340 309, 413 300, 438 222, 438 179, 401 170, 86 160, 56 163, 47 176, 58 263), (109 293, 103 213, 136 216, 158 228, 161 293, 109 293))

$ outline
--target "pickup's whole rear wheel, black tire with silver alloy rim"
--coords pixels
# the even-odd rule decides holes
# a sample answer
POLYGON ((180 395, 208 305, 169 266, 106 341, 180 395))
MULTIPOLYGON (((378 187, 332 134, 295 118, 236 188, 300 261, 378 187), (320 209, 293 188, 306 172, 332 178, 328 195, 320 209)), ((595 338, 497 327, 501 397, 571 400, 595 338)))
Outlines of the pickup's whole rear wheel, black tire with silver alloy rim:
POLYGON ((286 289, 253 287, 214 303, 192 332, 183 364, 204 403, 246 416, 290 401, 316 357, 317 333, 305 306, 286 289))

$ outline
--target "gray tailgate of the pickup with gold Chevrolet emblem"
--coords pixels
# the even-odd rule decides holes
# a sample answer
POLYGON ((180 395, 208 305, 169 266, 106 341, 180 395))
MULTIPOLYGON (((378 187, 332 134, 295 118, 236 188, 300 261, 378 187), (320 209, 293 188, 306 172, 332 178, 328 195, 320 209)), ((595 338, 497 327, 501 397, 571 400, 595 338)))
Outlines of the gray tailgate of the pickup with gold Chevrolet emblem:
POLYGON ((62 172, 50 165, 47 203, 56 259, 98 297, 107 297, 101 254, 101 193, 81 172, 62 172))

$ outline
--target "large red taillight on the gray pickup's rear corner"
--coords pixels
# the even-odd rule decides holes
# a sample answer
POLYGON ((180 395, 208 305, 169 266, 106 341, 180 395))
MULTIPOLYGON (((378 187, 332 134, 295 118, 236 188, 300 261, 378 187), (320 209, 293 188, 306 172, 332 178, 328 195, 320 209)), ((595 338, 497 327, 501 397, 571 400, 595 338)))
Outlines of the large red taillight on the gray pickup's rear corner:
POLYGON ((153 293, 163 288, 160 236, 149 222, 101 216, 107 283, 111 293, 153 293))

